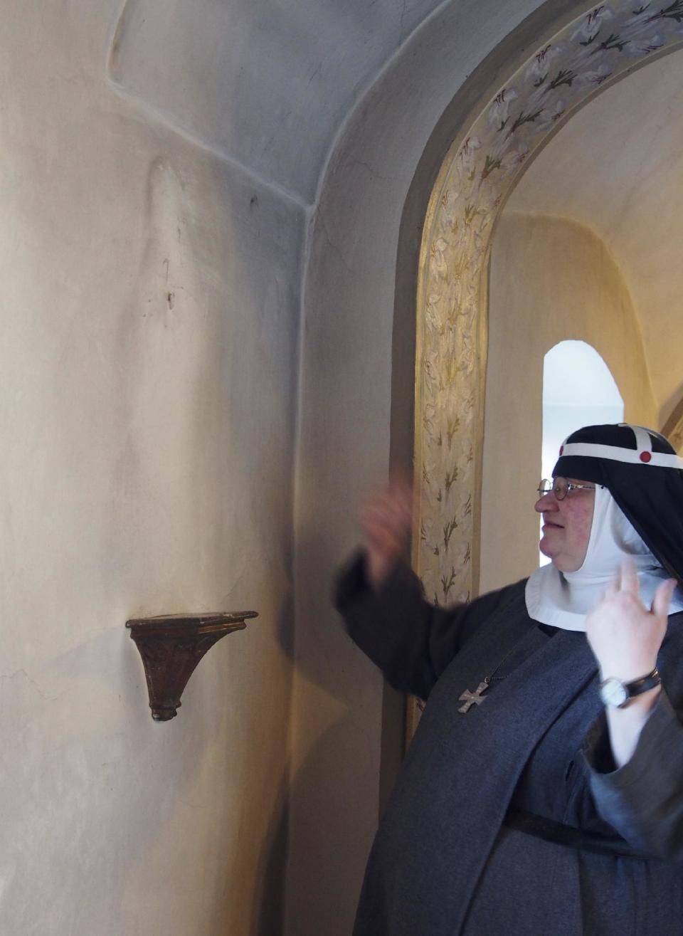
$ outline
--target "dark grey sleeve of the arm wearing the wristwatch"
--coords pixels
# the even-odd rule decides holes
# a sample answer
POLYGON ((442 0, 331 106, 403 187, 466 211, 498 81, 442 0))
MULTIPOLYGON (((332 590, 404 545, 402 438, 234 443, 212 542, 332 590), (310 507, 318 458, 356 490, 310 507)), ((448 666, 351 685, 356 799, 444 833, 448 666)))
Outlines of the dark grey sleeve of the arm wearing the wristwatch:
POLYGON ((639 850, 674 860, 683 860, 681 649, 679 639, 667 648, 669 665, 660 665, 666 689, 662 688, 631 759, 615 769, 604 713, 589 729, 584 749, 590 791, 603 819, 639 850))

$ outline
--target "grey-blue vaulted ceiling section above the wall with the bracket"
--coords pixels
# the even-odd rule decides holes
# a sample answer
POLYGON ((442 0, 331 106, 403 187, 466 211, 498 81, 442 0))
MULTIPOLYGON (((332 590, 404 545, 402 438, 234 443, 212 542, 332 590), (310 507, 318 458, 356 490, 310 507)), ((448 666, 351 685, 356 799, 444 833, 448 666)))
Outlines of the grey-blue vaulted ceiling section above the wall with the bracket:
POLYGON ((304 204, 357 98, 440 0, 128 0, 109 74, 304 204))

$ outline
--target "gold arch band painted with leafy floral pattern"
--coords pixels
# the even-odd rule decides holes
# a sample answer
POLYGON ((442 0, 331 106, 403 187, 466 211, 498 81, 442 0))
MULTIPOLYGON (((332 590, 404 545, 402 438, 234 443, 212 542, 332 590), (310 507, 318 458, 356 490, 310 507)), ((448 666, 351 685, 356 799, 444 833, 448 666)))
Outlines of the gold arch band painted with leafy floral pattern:
POLYGON ((429 597, 478 591, 488 264, 523 168, 605 87, 683 42, 683 4, 590 7, 463 127, 429 199, 417 287, 414 564, 429 597))

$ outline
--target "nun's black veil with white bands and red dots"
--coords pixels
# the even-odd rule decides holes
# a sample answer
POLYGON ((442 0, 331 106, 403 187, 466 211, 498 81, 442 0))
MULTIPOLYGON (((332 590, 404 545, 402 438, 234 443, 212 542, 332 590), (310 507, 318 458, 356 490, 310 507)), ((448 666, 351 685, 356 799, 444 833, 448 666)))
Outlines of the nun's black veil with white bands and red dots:
POLYGON ((586 426, 559 449, 553 475, 607 488, 647 548, 683 583, 683 459, 659 432, 586 426))

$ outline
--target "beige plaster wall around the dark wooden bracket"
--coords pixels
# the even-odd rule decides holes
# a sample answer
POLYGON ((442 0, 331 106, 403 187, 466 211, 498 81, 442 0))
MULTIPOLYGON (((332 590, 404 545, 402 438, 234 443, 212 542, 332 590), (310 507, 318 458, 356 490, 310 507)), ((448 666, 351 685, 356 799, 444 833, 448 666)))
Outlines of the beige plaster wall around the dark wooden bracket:
POLYGON ((2 7, 0 932, 271 936, 303 212, 2 7), (154 724, 126 619, 242 608, 154 724))

